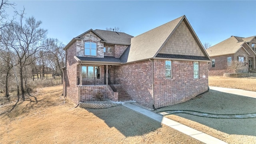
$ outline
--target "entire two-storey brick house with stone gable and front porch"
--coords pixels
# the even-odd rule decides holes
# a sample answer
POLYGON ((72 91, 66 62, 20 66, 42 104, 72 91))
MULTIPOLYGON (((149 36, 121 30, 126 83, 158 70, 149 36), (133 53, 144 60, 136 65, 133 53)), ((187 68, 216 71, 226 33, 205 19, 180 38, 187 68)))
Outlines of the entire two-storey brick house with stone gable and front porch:
POLYGON ((88 30, 64 48, 64 95, 73 102, 135 100, 152 108, 208 90, 210 57, 182 16, 136 37, 88 30))

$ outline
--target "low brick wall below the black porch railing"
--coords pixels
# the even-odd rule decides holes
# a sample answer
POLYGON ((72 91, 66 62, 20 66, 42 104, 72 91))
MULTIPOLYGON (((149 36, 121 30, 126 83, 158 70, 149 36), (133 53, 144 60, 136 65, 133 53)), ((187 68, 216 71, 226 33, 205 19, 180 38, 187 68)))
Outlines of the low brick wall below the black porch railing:
POLYGON ((80 102, 95 101, 96 92, 102 92, 106 98, 106 86, 80 86, 80 102))

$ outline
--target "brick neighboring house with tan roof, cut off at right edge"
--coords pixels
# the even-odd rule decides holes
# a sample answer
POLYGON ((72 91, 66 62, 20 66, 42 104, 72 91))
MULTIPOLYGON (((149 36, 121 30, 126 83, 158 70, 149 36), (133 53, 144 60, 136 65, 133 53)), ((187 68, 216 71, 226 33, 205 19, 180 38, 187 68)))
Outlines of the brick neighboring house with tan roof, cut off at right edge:
POLYGON ((223 76, 224 73, 248 73, 256 71, 256 37, 230 38, 206 49, 212 62, 209 75, 223 76))

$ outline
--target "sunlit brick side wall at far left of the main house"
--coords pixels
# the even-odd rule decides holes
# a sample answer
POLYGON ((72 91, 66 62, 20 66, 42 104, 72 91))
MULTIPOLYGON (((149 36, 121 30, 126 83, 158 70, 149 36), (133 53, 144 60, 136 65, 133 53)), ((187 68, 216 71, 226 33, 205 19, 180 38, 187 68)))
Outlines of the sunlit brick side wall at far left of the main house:
POLYGON ((76 86, 76 70, 78 62, 74 59, 76 55, 76 42, 66 50, 66 94, 67 98, 78 104, 78 87, 76 86))

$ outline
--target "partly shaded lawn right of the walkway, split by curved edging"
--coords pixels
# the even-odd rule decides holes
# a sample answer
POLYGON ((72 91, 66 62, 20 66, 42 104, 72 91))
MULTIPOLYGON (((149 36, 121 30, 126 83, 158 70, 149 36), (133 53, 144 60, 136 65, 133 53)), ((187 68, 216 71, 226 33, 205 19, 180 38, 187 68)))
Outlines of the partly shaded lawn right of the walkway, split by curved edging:
MULTIPOLYGON (((161 108, 164 110, 195 110, 213 114, 248 114, 256 112, 256 99, 210 90, 187 102, 161 108)), ((256 118, 220 119, 172 114, 167 118, 209 134, 229 144, 256 144, 256 118)))

